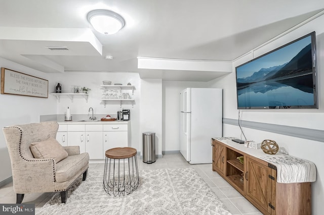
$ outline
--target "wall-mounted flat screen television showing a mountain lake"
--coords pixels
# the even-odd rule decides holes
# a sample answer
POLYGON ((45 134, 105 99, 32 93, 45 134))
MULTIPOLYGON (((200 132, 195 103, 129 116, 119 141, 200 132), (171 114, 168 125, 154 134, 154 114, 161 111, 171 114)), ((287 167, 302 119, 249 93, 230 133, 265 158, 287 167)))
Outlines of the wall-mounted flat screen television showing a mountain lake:
POLYGON ((235 68, 237 109, 318 109, 315 32, 235 68))

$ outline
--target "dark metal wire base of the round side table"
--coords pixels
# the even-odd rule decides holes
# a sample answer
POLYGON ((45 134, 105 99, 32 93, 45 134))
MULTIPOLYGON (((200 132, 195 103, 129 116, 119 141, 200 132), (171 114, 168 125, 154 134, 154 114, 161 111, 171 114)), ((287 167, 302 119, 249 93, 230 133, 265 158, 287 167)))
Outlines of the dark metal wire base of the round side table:
POLYGON ((114 159, 106 157, 103 188, 109 195, 125 196, 131 194, 139 185, 136 155, 129 158, 114 159))

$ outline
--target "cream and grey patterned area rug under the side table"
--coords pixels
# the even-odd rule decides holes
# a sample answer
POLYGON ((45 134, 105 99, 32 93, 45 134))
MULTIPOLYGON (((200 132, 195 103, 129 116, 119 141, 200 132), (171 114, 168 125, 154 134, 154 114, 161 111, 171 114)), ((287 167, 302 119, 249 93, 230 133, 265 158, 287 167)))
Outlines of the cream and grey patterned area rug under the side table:
POLYGON ((89 171, 68 191, 66 203, 55 194, 36 214, 230 214, 192 168, 140 171, 133 193, 110 196, 102 187, 103 172, 89 171))

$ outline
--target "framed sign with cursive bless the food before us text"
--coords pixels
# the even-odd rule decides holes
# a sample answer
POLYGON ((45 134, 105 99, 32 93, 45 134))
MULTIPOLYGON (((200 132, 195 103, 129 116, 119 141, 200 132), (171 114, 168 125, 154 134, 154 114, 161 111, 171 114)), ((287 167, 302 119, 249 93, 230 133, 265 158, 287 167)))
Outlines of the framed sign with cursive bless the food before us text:
POLYGON ((48 98, 49 81, 1 68, 1 94, 48 98))

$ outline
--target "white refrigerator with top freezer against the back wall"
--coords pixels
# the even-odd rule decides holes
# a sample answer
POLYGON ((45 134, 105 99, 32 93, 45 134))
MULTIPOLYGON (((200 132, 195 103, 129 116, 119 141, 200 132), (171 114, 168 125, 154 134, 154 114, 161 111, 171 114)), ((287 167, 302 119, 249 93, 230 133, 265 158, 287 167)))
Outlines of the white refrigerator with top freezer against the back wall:
POLYGON ((212 163, 211 138, 222 137, 222 116, 222 89, 180 93, 180 152, 189 164, 212 163))

